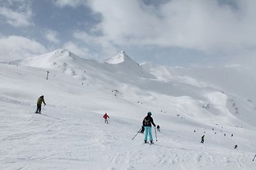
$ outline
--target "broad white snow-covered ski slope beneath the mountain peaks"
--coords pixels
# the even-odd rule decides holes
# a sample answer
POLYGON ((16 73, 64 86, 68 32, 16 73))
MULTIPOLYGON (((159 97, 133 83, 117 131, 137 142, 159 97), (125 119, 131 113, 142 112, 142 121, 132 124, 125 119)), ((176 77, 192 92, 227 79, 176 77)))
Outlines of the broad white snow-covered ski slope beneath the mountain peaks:
POLYGON ((0 169, 256 169, 255 106, 243 90, 228 92, 204 71, 135 64, 141 77, 129 74, 131 63, 122 70, 81 60, 74 67, 68 59, 63 70, 47 60, 40 58, 45 67, 0 64, 0 169), (154 145, 144 134, 134 138, 148 111, 161 127, 157 141, 152 128, 154 145))

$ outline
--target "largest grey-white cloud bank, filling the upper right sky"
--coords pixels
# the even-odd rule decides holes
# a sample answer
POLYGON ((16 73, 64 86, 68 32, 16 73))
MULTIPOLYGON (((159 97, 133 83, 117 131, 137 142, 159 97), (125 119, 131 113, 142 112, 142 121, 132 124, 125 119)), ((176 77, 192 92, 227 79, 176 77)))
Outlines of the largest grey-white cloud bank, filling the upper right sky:
POLYGON ((102 15, 97 28, 103 41, 241 52, 255 47, 256 1, 232 3, 236 7, 216 0, 172 0, 155 7, 137 0, 93 0, 90 6, 102 15))

